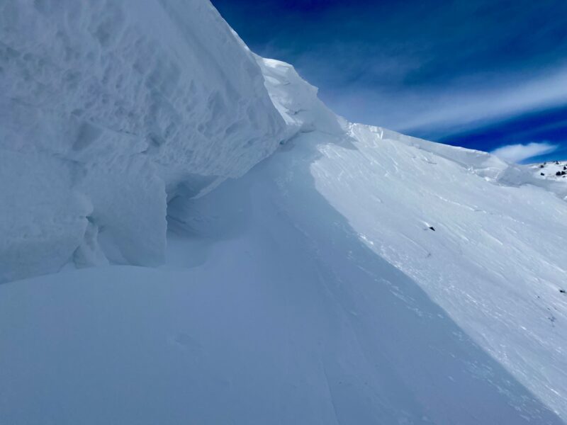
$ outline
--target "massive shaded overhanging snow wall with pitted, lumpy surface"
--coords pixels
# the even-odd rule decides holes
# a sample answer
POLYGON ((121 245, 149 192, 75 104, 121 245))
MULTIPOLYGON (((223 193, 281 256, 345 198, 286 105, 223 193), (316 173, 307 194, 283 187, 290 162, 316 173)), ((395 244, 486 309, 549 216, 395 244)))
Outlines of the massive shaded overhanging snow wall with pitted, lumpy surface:
POLYGON ((3 1, 0 40, 0 281, 77 249, 82 265, 160 263, 180 184, 203 193, 281 140, 208 1, 3 1))

